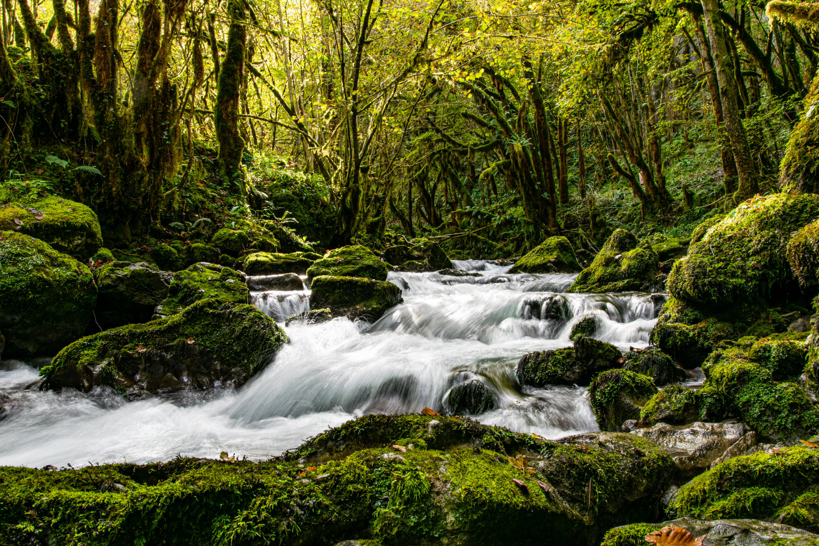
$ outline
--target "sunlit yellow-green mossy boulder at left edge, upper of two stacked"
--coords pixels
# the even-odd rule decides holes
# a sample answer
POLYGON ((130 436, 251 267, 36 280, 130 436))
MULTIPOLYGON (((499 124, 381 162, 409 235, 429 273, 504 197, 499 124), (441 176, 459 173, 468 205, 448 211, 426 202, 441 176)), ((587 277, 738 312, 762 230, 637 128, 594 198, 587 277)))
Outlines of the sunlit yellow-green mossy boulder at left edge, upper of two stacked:
POLYGON ((97 214, 61 197, 0 205, 0 231, 16 231, 46 241, 59 252, 85 261, 102 247, 97 214))

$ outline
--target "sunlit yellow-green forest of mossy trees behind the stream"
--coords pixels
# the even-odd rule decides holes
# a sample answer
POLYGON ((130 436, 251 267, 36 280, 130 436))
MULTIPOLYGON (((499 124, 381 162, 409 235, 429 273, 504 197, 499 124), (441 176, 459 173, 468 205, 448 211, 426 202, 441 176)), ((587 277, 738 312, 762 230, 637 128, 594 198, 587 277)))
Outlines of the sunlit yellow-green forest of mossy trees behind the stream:
POLYGON ((126 254, 223 226, 488 259, 684 237, 817 190, 814 20, 778 0, 3 0, 0 204, 83 202, 126 254))

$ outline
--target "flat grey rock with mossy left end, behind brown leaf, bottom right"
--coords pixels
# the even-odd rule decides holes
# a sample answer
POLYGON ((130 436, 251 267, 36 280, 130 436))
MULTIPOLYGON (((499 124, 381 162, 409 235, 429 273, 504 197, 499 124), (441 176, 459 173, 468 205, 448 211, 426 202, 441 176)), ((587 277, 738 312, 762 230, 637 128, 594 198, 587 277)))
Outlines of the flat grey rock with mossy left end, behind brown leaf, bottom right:
POLYGON ((682 527, 695 537, 704 536, 703 544, 719 546, 816 546, 819 535, 781 523, 760 520, 697 520, 693 517, 663 523, 634 523, 609 530, 601 546, 642 546, 645 535, 665 526, 682 527))

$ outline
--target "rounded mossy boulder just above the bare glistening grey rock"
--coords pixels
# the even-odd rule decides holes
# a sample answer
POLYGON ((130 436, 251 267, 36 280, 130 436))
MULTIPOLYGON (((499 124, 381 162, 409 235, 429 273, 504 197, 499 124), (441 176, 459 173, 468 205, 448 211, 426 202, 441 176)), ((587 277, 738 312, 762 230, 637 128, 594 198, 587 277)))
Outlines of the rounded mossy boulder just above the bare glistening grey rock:
POLYGON ((657 394, 651 377, 613 369, 591 381, 589 396, 601 431, 619 431, 629 419, 640 418, 640 408, 657 394))

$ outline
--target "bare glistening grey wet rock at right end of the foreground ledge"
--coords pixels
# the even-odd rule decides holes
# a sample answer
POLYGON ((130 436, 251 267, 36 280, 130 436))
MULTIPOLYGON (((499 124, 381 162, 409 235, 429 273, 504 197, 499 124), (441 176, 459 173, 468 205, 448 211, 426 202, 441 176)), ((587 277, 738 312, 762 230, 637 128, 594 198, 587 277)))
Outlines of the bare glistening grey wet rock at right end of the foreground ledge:
POLYGON ((658 444, 688 479, 707 470, 748 431, 741 422, 692 422, 687 425, 659 422, 648 428, 636 428, 631 434, 658 444))

